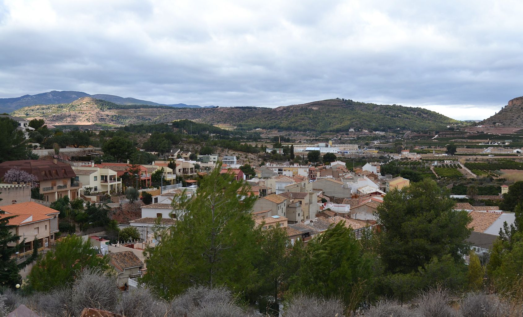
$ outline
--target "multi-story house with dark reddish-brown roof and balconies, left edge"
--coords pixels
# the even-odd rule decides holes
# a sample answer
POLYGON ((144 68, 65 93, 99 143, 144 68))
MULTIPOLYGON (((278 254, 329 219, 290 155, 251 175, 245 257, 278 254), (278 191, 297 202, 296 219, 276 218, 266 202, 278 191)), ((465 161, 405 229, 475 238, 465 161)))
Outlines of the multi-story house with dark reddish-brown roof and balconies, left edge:
POLYGON ((76 174, 69 164, 56 160, 7 161, 0 164, 0 175, 14 167, 38 178, 40 195, 43 195, 46 201, 52 202, 64 196, 76 199, 80 196, 79 189, 82 184, 76 180, 76 174))

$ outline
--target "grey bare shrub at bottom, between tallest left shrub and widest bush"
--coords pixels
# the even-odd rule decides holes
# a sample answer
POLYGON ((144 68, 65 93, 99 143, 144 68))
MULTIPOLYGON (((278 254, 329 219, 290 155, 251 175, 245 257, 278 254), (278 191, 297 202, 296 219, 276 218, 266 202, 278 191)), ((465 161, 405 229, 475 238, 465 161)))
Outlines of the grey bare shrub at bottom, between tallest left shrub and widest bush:
POLYGON ((157 300, 149 289, 140 287, 122 295, 116 312, 126 317, 163 317, 167 314, 167 303, 157 300))

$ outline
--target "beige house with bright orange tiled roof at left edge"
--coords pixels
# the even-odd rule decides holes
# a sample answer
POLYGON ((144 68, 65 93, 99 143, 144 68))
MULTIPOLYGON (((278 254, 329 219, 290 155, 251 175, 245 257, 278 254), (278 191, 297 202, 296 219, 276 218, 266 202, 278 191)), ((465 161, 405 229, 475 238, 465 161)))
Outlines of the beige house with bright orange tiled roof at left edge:
MULTIPOLYGON (((26 240, 18 256, 33 250, 35 237, 39 240, 39 247, 48 247, 54 241, 60 211, 32 201, 2 206, 2 210, 5 213, 0 214, 0 218, 14 216, 9 219, 9 225, 15 226, 11 231, 20 236, 17 243, 26 240)), ((15 243, 9 245, 14 246, 15 243)))

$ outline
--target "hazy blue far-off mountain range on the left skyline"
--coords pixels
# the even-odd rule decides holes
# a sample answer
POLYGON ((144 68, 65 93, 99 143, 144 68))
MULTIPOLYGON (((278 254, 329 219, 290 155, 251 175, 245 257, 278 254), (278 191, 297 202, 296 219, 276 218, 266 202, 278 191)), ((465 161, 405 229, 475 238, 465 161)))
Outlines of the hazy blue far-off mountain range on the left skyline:
MULTIPOLYGON (((53 90, 52 92, 42 93, 37 95, 25 95, 16 98, 0 98, 0 112, 13 112, 23 107, 35 106, 35 105, 58 105, 58 104, 70 104, 74 100, 81 97, 92 97, 94 99, 102 99, 110 101, 118 105, 150 105, 150 106, 169 106, 174 108, 200 108, 196 105, 186 104, 157 104, 153 101, 140 100, 135 98, 123 98, 115 95, 104 95, 96 94, 89 95, 84 92, 70 92, 63 91, 58 92, 53 90)), ((211 106, 213 107, 213 106, 211 106)))

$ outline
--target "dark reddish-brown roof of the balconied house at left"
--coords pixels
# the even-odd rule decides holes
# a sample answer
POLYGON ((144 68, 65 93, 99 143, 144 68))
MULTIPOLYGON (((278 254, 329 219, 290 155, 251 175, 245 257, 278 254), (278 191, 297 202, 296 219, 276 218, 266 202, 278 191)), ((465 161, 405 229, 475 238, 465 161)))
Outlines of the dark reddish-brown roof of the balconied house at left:
POLYGON ((9 169, 15 166, 22 171, 35 175, 40 182, 42 180, 76 177, 71 165, 62 162, 54 164, 51 160, 7 161, 0 164, 0 175, 4 176, 9 169))

